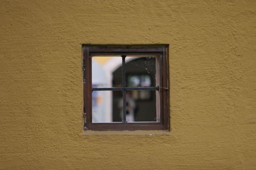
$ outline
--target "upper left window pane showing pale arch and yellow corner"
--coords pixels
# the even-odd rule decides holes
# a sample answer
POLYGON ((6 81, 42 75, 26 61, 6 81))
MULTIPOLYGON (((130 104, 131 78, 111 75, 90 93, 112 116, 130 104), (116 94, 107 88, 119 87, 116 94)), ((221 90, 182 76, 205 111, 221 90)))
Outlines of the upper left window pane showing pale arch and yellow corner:
POLYGON ((97 87, 122 87, 122 69, 118 69, 120 67, 122 57, 92 57, 92 84, 97 87))

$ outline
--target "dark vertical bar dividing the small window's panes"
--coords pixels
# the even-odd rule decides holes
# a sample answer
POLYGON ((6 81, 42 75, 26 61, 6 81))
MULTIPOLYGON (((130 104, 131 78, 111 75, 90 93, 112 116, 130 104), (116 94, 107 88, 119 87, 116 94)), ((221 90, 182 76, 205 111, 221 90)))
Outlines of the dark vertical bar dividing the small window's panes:
MULTIPOLYGON (((122 86, 126 87, 126 77, 125 77, 125 57, 126 55, 122 55, 122 86)), ((123 117, 122 122, 126 121, 126 90, 123 89, 123 117)))

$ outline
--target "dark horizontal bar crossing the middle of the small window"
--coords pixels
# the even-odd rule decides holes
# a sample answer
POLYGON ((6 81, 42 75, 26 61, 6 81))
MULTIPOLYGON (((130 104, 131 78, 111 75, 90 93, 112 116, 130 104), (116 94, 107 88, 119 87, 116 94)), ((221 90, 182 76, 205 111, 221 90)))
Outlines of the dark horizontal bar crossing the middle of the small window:
POLYGON ((157 87, 104 87, 104 88, 93 87, 92 90, 93 91, 159 90, 159 86, 157 87))

